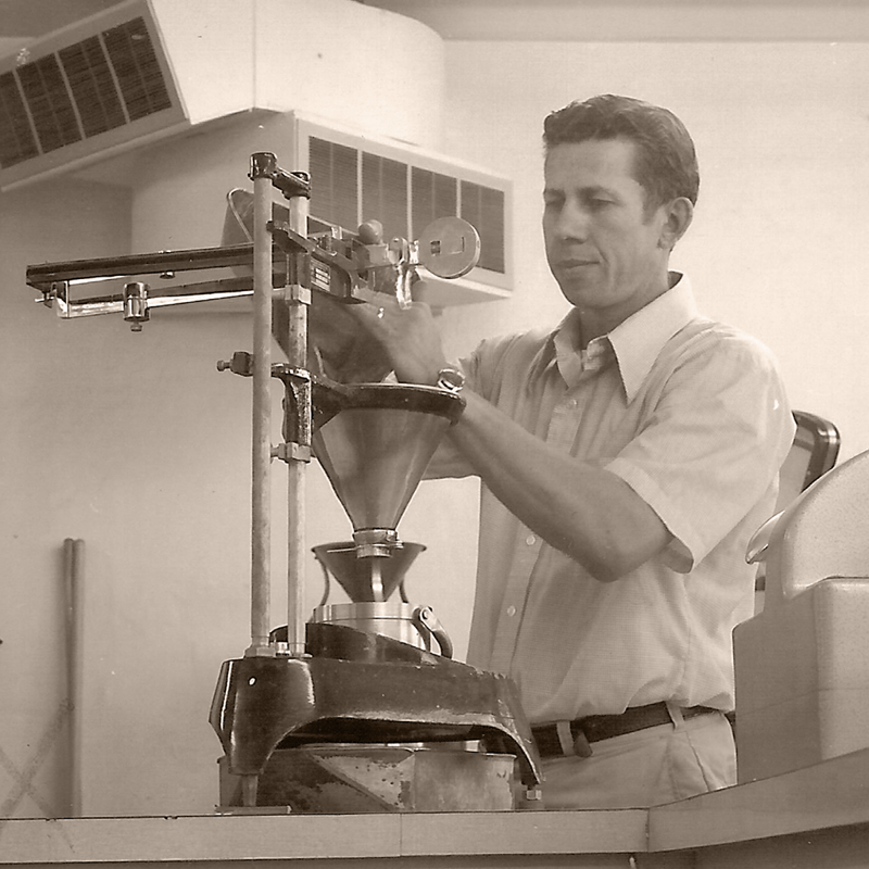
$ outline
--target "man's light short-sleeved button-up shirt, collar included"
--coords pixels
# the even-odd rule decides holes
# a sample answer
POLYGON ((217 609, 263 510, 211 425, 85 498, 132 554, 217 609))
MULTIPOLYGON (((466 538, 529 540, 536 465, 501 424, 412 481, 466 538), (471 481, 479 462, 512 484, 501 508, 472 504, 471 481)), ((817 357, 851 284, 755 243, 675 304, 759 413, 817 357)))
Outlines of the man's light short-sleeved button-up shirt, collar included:
MULTIPOLYGON (((684 277, 585 351, 577 317, 484 341, 463 361, 467 387, 625 480, 672 541, 600 582, 483 486, 468 663, 511 676, 532 723, 658 701, 731 709, 731 632, 753 610, 745 550, 794 436, 777 363, 700 316, 684 277)), ((448 445, 428 476, 469 473, 448 445)))

